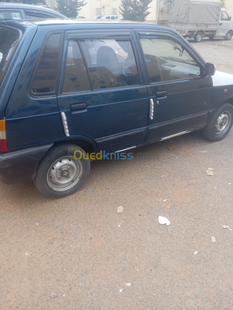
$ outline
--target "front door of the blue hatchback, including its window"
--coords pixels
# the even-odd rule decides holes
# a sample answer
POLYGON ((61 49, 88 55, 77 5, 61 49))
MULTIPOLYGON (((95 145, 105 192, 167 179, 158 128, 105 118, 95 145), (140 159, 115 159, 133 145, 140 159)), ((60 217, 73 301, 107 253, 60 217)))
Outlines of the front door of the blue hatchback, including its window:
MULTIPOLYGON (((213 82, 195 52, 174 34, 140 32, 137 37, 148 72, 148 135, 145 143, 196 130, 211 109, 213 82)), ((201 57, 200 57, 201 58, 201 57)))

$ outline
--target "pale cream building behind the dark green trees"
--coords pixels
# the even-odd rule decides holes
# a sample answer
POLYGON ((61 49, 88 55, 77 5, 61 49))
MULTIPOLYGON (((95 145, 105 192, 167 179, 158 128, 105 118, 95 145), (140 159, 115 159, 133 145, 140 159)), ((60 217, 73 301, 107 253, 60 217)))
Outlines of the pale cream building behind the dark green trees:
MULTIPOLYGON (((231 1, 231 0, 230 0, 231 1)), ((53 9, 55 0, 46 0, 46 3, 53 9)), ((93 20, 96 15, 118 15, 121 0, 87 0, 86 5, 79 11, 79 16, 84 16, 87 19, 93 20)), ((152 0, 150 3, 149 12, 146 20, 153 24, 168 24, 169 4, 164 4, 164 1, 152 0)))

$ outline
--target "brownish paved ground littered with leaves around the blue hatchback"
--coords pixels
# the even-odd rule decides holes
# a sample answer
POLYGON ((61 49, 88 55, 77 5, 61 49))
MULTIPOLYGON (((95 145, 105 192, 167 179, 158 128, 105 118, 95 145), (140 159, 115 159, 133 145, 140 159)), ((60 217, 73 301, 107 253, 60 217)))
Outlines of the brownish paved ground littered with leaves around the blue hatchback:
MULTIPOLYGON (((233 39, 192 44, 233 73, 233 39)), ((192 132, 92 162, 59 200, 1 184, 0 309, 233 309, 232 140, 192 132)))

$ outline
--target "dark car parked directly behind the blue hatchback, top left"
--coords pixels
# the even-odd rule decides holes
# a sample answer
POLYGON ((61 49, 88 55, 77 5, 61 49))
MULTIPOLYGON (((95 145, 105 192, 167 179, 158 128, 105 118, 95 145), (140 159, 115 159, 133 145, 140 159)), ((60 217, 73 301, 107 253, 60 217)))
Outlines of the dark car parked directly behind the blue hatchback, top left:
POLYGON ((23 3, 0 2, 0 21, 37 18, 67 18, 47 7, 23 3))

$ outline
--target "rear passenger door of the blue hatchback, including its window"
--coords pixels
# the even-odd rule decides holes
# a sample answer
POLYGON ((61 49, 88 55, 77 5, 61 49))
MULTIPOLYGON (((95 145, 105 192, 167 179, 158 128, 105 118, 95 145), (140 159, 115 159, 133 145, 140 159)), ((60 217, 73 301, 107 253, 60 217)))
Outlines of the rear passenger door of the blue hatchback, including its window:
POLYGON ((89 137, 106 152, 144 143, 148 95, 136 59, 130 30, 66 33, 58 107, 67 135, 89 137))

